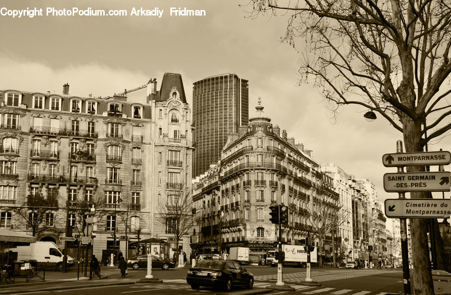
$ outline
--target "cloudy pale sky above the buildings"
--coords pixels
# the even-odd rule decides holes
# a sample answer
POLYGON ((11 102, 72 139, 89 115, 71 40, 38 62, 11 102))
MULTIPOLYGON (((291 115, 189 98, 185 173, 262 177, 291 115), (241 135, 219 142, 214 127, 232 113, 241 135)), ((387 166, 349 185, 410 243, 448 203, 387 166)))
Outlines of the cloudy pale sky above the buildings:
MULTIPOLYGON (((299 53, 280 42, 287 19, 251 19, 249 9, 239 7, 247 3, 3 0, 0 9, 5 12, 37 8, 43 16, 0 16, 0 89, 61 94, 63 84, 69 83, 71 95, 105 97, 151 78, 160 83, 164 73, 179 73, 191 104, 194 82, 235 73, 249 80, 250 114, 261 97, 273 125, 313 150, 318 163, 335 163, 355 178, 369 179, 380 201, 397 198, 383 190, 383 174, 396 168, 385 168, 382 155, 396 152, 402 134, 380 116, 364 120, 368 110, 362 107, 342 108, 332 118, 320 89, 300 85, 299 53), (171 7, 204 10, 205 16, 170 16, 171 7), (47 8, 126 10, 127 16, 46 16, 47 8), (131 16, 133 8, 163 13, 131 16)), ((450 150, 450 145, 448 136, 429 150, 450 150)))

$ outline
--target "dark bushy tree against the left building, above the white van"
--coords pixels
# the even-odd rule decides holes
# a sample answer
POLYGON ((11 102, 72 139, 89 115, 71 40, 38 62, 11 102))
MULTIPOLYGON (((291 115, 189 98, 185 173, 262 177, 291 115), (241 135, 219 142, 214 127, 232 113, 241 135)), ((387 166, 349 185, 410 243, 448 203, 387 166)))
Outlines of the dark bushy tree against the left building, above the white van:
POLYGON ((32 231, 33 236, 36 236, 39 230, 54 227, 54 224, 58 223, 56 219, 60 215, 52 212, 58 209, 58 198, 57 189, 49 189, 47 192, 41 189, 35 194, 28 195, 26 201, 20 206, 11 208, 32 231), (48 222, 46 222, 47 217, 48 222))

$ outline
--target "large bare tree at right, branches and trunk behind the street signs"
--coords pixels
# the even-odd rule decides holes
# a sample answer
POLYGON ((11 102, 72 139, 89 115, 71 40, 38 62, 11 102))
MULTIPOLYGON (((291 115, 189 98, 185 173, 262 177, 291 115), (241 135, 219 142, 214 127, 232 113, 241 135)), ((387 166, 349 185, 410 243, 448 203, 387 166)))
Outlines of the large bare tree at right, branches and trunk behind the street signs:
MULTIPOLYGON (((300 82, 322 89, 334 114, 351 104, 379 113, 402 132, 407 152, 422 151, 451 129, 451 89, 440 89, 451 73, 449 1, 252 0, 245 9, 251 17, 288 18, 282 41, 301 53, 300 82)), ((426 220, 412 218, 410 224, 413 293, 431 295, 426 220)))

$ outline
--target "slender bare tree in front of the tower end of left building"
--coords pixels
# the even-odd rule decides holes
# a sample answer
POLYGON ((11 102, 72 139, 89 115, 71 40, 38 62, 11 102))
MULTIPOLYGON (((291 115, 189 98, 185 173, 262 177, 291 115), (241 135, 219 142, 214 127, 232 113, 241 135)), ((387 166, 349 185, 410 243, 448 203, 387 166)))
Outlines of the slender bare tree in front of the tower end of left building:
MULTIPOLYGON (((195 225, 192 215, 191 188, 180 184, 175 190, 168 193, 166 200, 158 200, 155 212, 155 221, 166 228, 167 233, 172 233, 176 240, 177 250, 179 239, 187 235, 195 225)), ((176 263, 178 261, 178 255, 176 263)))

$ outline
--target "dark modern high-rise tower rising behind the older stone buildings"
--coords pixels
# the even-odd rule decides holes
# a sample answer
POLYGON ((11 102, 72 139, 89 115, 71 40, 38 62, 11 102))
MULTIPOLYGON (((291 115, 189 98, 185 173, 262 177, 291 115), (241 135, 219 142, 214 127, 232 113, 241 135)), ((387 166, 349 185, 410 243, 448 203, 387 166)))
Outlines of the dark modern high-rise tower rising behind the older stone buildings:
POLYGON ((192 176, 220 159, 229 134, 249 121, 248 80, 235 74, 208 77, 193 84, 194 158, 192 176))

